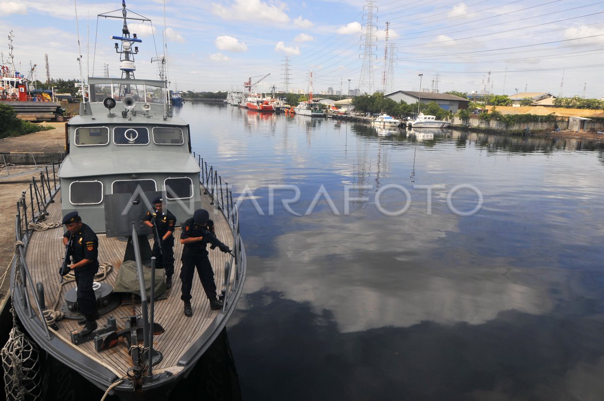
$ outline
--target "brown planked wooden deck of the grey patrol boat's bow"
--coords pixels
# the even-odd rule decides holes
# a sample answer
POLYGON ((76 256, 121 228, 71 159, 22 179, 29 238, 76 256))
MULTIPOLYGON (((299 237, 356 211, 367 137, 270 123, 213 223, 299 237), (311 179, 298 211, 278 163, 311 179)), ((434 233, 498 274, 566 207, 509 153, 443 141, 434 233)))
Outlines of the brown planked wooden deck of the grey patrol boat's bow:
MULTIPOLYGON (((57 194, 55 199, 60 199, 60 194, 57 194)), ((207 195, 202 195, 202 207, 210 212, 210 218, 214 220, 214 228, 216 236, 223 243, 233 248, 233 238, 229 224, 219 210, 214 210, 213 205, 210 205, 210 199, 207 195)), ((48 207, 50 215, 47 217, 48 222, 61 221, 60 203, 51 203, 48 207)), ((86 221, 84 221, 86 223, 86 221)), ((178 224, 183 222, 178 222, 178 224)), ((64 229, 50 229, 46 231, 34 232, 31 236, 31 241, 27 250, 27 266, 30 269, 31 276, 34 282, 42 282, 45 291, 45 303, 47 308, 52 308, 59 292, 59 267, 62 264, 65 247, 62 243, 64 229)), ((216 318, 218 311, 210 310, 210 304, 205 296, 199 277, 195 274, 193 279, 193 289, 191 290, 191 305, 193 307, 193 316, 187 318, 183 313, 183 302, 181 296, 181 281, 179 274, 181 271, 181 253, 182 245, 178 241, 181 235, 181 230, 175 231, 175 272, 173 276, 172 289, 168 290, 167 299, 161 299, 155 302, 155 322, 158 322, 165 328, 165 333, 154 337, 153 348, 163 354, 163 359, 158 365, 155 365, 155 371, 170 370, 176 373, 180 370, 177 366, 179 358, 188 350, 194 341, 204 333, 204 330, 216 318)), ((117 238, 107 238, 104 234, 98 235, 99 241, 99 262, 111 263, 114 267, 109 273, 108 278, 104 281, 114 285, 117 277, 118 269, 120 268, 124 252, 126 250, 126 242, 120 241, 117 238)), ((216 281, 217 292, 220 293, 222 282, 224 279, 224 265, 231 256, 220 252, 217 248, 209 250, 210 261, 214 268, 214 280, 216 281)), ((74 281, 63 285, 62 292, 59 295, 59 306, 64 302, 65 293, 76 287, 74 281)), ((31 287, 30 287, 31 288, 31 287)), ((30 299, 33 297, 30 294, 30 299)), ((136 304, 137 313, 141 313, 140 304, 136 304)), ((98 324, 104 324, 106 318, 114 316, 117 321, 118 330, 124 328, 125 319, 132 315, 132 305, 120 305, 98 319, 98 324)), ((71 344, 71 331, 79 331, 82 326, 77 324, 76 320, 63 319, 58 322, 59 330, 57 336, 71 344)), ((86 342, 78 346, 74 346, 82 352, 94 359, 100 360, 114 370, 118 376, 124 376, 128 368, 132 366, 127 348, 123 342, 117 347, 97 353, 94 349, 94 341, 86 342)))

